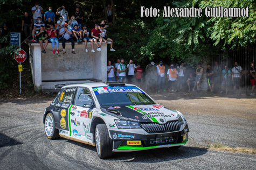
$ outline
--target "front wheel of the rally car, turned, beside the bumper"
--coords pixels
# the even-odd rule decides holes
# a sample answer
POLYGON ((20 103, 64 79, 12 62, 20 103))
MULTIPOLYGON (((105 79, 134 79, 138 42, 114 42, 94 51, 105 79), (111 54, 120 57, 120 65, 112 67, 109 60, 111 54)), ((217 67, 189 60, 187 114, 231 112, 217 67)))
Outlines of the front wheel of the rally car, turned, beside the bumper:
POLYGON ((95 129, 96 150, 100 159, 112 156, 112 139, 109 138, 105 124, 98 124, 95 129))

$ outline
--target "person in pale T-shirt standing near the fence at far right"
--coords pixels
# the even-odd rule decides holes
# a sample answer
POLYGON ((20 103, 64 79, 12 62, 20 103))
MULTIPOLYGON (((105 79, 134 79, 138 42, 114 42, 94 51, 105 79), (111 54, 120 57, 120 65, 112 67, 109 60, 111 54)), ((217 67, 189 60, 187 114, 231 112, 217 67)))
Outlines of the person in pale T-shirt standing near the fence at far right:
POLYGON ((241 79, 243 76, 243 68, 237 65, 237 61, 234 62, 232 68, 232 82, 234 83, 234 93, 236 93, 237 86, 239 87, 239 93, 241 93, 241 79))

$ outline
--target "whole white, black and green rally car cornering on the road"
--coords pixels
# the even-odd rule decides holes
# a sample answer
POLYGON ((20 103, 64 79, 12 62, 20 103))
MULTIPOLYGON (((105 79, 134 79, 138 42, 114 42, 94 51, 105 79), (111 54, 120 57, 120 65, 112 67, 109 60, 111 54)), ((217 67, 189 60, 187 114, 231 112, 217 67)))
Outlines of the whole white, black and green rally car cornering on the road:
POLYGON ((61 87, 45 109, 43 123, 47 138, 96 146, 100 158, 111 157, 112 152, 178 148, 186 144, 189 132, 181 112, 121 82, 61 87))

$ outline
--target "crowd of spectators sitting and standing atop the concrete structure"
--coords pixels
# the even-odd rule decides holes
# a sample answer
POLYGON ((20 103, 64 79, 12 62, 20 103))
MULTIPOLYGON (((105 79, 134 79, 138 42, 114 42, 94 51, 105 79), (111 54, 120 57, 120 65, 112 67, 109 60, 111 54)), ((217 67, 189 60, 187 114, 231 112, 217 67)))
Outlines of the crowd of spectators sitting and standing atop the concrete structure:
MULTIPOLYGON (((106 8, 108 13, 112 11, 109 5, 106 8)), ((75 54, 75 41, 85 43, 85 52, 88 52, 88 41, 91 42, 91 52, 93 53, 95 52, 93 44, 98 47, 97 51, 101 51, 102 42, 110 43, 110 51, 115 51, 113 40, 107 36, 108 25, 106 25, 104 20, 100 24, 96 23, 90 32, 86 24, 82 27, 84 14, 80 11, 79 7, 75 8, 75 12, 71 17, 69 17, 64 5, 59 7, 55 13, 52 10, 52 6, 49 6, 48 10, 44 12, 39 3, 35 2, 31 9, 33 17, 30 17, 29 13, 25 12, 22 19, 22 31, 25 33, 25 38, 28 39, 31 36, 31 43, 39 42, 42 53, 46 53, 45 49, 49 41, 52 43, 53 54, 59 53, 59 42, 62 42, 63 54, 65 54, 66 41, 71 42, 72 54, 75 54), (57 16, 59 16, 58 19, 56 19, 57 16), (44 46, 43 43, 45 43, 44 46), (56 50, 54 50, 55 44, 56 50)))

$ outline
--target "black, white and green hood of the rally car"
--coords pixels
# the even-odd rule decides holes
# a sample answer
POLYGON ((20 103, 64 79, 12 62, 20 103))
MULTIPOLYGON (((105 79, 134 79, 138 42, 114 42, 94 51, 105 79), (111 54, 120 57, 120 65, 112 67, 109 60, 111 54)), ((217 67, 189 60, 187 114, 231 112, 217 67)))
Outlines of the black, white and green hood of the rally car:
POLYGON ((157 122, 165 124, 177 120, 179 114, 175 110, 165 108, 163 105, 127 105, 102 107, 101 110, 122 120, 135 122, 157 122))

